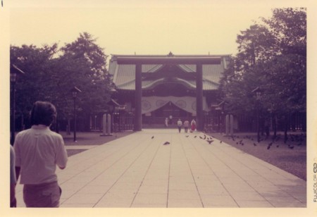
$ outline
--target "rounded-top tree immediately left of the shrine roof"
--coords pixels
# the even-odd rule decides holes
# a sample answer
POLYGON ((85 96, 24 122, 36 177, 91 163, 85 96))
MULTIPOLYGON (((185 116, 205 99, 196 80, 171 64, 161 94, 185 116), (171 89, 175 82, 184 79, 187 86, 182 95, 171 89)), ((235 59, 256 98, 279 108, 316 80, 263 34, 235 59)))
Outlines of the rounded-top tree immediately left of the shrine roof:
POLYGON ((103 111, 113 89, 111 76, 106 70, 108 56, 95 42, 89 33, 81 33, 75 42, 61 48, 56 70, 56 83, 58 89, 64 90, 63 98, 69 99, 65 96, 74 86, 82 90, 78 108, 85 115, 103 111))

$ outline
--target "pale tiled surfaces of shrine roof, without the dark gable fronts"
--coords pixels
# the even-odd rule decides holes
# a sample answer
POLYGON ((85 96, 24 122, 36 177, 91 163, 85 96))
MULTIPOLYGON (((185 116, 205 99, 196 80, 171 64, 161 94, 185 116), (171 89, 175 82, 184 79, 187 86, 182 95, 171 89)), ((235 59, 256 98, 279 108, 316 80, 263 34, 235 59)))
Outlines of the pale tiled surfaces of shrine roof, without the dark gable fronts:
MULTIPOLYGON (((117 63, 116 58, 120 55, 113 55, 109 64, 109 73, 113 75, 113 83, 118 89, 133 90, 135 89, 135 65, 120 65, 117 63)), ((188 56, 187 56, 188 57, 188 56)), ((196 56, 193 56, 196 57, 196 56)), ((217 89, 220 77, 230 59, 229 55, 222 55, 220 64, 203 65, 203 89, 212 90, 217 89)), ((196 65, 180 64, 178 67, 184 73, 195 73, 196 65)), ((163 65, 142 65, 142 73, 156 73, 163 68, 163 65)), ((187 87, 194 89, 196 87, 196 80, 183 80, 182 77, 178 78, 180 82, 187 87)), ((147 89, 151 85, 163 82, 163 78, 159 80, 142 80, 142 88, 147 89)))

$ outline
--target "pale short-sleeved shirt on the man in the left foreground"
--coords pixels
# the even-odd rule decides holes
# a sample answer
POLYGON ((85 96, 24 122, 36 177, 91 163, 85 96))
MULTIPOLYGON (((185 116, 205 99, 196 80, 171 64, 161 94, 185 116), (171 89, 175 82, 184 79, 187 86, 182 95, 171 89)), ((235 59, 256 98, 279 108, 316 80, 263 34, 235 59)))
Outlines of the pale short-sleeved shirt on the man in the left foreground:
POLYGON ((19 132, 14 149, 21 184, 57 181, 56 165, 65 167, 68 160, 63 137, 46 125, 32 125, 32 128, 19 132))

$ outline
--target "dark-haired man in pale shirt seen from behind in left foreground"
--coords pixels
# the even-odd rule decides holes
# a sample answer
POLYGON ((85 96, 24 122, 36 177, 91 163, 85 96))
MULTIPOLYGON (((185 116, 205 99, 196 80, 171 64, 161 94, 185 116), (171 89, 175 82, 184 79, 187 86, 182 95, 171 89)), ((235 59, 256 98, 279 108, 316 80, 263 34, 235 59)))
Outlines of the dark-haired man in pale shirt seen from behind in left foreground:
POLYGON ((61 188, 56 166, 66 168, 68 161, 63 137, 49 129, 56 118, 56 108, 47 101, 37 101, 30 113, 32 127, 15 137, 15 172, 23 186, 27 207, 59 207, 61 188))

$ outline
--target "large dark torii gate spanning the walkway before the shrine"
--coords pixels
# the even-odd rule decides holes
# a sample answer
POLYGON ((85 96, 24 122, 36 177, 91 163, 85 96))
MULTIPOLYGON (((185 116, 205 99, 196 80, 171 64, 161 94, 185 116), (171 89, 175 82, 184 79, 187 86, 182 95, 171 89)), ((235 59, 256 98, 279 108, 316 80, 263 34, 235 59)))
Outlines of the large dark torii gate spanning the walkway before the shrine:
POLYGON ((135 65, 135 123, 134 130, 142 130, 142 65, 143 64, 191 64, 196 65, 196 113, 197 113, 197 130, 204 130, 203 116, 203 76, 202 65, 220 64, 221 58, 215 56, 118 56, 118 64, 135 65))

